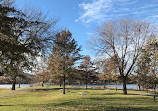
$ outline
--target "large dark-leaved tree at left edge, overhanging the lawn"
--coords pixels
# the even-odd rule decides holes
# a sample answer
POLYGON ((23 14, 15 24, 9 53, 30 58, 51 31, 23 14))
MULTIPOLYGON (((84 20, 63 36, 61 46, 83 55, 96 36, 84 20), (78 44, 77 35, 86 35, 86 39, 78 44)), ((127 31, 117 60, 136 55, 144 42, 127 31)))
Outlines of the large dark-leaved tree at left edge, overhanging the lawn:
POLYGON ((56 21, 48 22, 41 12, 17 10, 10 1, 0 2, 0 65, 13 79, 15 90, 18 70, 31 70, 36 56, 51 45, 50 29, 56 21))

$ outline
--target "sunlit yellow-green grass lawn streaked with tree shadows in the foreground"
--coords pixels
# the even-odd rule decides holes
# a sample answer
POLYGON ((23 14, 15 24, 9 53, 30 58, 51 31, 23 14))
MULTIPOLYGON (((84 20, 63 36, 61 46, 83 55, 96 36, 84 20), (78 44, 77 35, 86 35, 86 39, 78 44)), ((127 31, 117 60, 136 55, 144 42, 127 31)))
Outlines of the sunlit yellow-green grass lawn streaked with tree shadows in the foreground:
POLYGON ((152 96, 133 94, 138 91, 123 95, 121 90, 68 88, 63 95, 56 86, 35 90, 1 97, 0 111, 158 111, 158 100, 154 102, 152 96))

